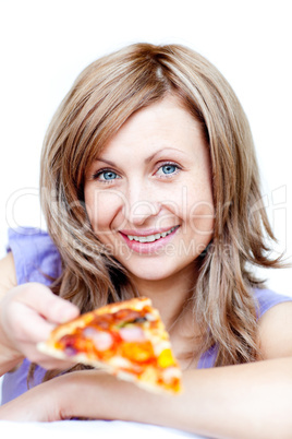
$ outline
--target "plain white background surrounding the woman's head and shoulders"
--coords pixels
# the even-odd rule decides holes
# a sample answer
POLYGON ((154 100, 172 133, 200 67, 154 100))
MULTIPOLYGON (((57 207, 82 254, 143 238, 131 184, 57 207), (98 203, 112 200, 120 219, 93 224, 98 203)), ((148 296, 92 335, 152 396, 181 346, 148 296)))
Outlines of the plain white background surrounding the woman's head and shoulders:
MULTIPOLYGON (((9 227, 46 227, 39 155, 60 100, 89 62, 135 41, 190 46, 231 83, 252 126, 277 249, 292 254, 290 9, 290 0, 0 0, 0 257, 9 227)), ((264 275, 292 296, 292 269, 264 275)))

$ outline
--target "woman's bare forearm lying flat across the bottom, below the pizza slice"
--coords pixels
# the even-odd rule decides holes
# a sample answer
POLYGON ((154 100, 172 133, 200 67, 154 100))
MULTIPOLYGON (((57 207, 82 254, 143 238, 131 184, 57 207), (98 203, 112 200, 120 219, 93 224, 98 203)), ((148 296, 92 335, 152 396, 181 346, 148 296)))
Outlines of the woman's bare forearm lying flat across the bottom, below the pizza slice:
POLYGON ((214 438, 291 438, 292 358, 192 369, 183 373, 183 383, 181 395, 168 396, 99 371, 72 372, 0 407, 0 419, 89 417, 155 424, 214 438))

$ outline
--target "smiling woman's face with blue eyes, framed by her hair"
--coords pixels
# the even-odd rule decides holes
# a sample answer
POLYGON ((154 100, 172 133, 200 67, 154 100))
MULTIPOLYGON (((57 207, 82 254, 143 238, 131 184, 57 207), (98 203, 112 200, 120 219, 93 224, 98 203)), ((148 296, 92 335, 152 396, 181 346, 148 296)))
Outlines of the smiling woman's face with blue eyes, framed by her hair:
POLYGON ((193 271, 214 228, 199 123, 174 97, 137 111, 86 173, 85 203, 95 234, 133 277, 193 271))

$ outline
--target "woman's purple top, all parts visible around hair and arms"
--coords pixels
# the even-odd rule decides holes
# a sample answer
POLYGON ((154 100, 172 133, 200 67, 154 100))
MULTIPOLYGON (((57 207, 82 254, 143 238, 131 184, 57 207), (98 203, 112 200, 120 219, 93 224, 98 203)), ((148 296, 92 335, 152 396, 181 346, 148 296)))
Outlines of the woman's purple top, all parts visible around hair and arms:
MULTIPOLYGON (((13 252, 19 284, 40 282, 50 285, 51 278, 61 274, 60 254, 49 235, 36 228, 9 230, 8 251, 13 252)), ((270 289, 255 289, 258 301, 258 317, 275 305, 291 301, 292 297, 280 296, 270 289)), ((216 346, 208 349, 198 360, 198 368, 210 368, 216 360, 216 346)), ((2 404, 13 400, 27 390, 27 371, 29 361, 24 359, 13 372, 8 372, 2 382, 2 404)), ((41 382, 45 370, 37 366, 34 385, 41 382)))

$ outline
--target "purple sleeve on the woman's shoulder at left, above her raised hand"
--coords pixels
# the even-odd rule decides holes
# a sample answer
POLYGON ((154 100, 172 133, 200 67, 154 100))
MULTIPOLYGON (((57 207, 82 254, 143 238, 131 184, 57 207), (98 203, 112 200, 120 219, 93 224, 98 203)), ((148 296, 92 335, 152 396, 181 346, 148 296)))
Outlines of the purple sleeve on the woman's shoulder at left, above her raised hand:
POLYGON ((8 252, 13 256, 17 284, 49 285, 61 274, 61 257, 47 232, 22 227, 9 230, 8 252))

